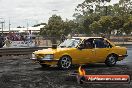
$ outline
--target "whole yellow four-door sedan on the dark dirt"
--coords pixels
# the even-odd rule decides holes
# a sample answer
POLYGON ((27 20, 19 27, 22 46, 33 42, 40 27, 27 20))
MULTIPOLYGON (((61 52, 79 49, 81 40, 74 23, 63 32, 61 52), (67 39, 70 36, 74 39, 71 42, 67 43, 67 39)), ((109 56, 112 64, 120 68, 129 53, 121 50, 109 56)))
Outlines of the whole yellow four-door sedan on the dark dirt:
POLYGON ((72 37, 59 46, 33 52, 32 60, 43 67, 57 65, 69 69, 73 64, 105 63, 114 66, 127 56, 125 47, 115 46, 102 37, 72 37))

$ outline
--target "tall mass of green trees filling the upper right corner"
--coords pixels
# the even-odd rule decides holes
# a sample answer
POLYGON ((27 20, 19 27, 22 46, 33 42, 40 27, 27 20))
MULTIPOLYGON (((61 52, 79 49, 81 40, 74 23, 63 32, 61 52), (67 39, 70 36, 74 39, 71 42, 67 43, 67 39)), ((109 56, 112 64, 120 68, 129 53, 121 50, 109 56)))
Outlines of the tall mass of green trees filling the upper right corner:
POLYGON ((78 4, 73 16, 79 25, 83 23, 85 33, 132 32, 132 0, 119 0, 113 5, 109 5, 109 2, 111 0, 84 0, 78 4))

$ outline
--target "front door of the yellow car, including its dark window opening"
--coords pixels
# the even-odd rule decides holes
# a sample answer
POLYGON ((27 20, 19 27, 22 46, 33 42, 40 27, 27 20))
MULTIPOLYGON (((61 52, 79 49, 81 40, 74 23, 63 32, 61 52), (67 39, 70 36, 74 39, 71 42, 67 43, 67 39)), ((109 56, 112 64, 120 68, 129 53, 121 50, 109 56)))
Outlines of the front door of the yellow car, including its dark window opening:
POLYGON ((93 40, 87 39, 82 43, 83 48, 76 50, 76 61, 78 63, 86 64, 91 63, 95 59, 93 40))

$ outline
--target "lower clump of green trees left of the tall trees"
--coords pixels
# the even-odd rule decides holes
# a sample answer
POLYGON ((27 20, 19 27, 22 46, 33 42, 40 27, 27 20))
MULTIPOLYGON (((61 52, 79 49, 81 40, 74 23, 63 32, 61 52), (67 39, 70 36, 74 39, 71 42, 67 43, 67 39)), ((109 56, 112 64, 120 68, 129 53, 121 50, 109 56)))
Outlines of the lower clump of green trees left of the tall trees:
POLYGON ((48 24, 41 28, 40 34, 46 37, 60 37, 77 31, 78 24, 72 20, 63 21, 60 16, 53 15, 49 18, 48 24))

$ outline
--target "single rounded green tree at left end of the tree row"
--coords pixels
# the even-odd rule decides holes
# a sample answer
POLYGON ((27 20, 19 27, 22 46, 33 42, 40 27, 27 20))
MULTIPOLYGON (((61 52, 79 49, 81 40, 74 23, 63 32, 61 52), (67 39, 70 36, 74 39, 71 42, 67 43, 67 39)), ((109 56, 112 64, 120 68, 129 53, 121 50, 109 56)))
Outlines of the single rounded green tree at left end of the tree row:
POLYGON ((60 16, 53 15, 49 18, 48 24, 41 28, 41 35, 47 37, 59 37, 63 30, 63 20, 60 16))

